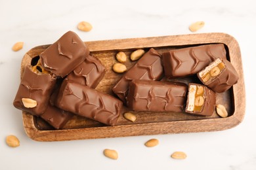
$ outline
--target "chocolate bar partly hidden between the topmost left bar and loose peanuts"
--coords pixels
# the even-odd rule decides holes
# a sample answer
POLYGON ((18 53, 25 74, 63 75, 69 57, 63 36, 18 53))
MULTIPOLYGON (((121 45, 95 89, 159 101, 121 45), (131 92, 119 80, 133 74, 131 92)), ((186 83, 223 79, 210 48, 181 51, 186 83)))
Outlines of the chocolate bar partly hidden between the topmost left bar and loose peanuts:
POLYGON ((67 76, 67 79, 90 88, 96 88, 100 80, 104 77, 105 72, 106 69, 98 58, 87 56, 85 61, 67 76))

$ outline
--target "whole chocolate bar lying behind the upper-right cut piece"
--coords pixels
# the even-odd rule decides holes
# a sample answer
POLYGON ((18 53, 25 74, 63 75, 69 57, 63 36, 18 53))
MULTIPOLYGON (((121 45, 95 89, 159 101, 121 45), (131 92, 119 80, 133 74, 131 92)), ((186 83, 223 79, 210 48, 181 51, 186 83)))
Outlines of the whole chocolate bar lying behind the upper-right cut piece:
POLYGON ((226 59, 223 44, 209 44, 163 52, 163 68, 167 78, 194 75, 217 58, 226 59))

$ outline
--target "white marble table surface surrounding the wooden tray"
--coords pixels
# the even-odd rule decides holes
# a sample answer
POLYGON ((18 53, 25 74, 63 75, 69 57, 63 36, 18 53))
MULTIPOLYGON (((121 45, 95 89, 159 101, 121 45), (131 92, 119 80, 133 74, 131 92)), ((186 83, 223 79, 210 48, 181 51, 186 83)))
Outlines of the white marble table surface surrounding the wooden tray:
POLYGON ((0 169, 256 169, 255 1, 0 1, 0 169), (85 20, 89 33, 76 25, 85 20), (20 110, 12 100, 18 88, 22 56, 50 44, 68 30, 83 41, 154 37, 191 33, 188 25, 204 21, 198 33, 223 32, 240 44, 244 66, 246 113, 243 122, 225 131, 119 137, 43 143, 26 136, 20 110), (24 48, 12 52, 17 41, 24 48), (20 139, 18 148, 5 137, 20 139), (154 148, 144 142, 160 140, 154 148), (119 152, 118 160, 103 156, 104 148, 119 152), (186 152, 173 160, 172 152, 186 152))

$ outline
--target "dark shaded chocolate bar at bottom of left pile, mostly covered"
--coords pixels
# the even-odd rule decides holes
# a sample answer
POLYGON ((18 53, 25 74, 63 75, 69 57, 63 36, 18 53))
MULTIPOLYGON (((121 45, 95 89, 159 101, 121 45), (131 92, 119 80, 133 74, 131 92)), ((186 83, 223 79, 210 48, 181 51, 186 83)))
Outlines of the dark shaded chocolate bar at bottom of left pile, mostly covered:
POLYGON ((55 129, 61 129, 72 118, 73 114, 52 105, 48 105, 43 114, 40 115, 43 120, 48 122, 55 129))

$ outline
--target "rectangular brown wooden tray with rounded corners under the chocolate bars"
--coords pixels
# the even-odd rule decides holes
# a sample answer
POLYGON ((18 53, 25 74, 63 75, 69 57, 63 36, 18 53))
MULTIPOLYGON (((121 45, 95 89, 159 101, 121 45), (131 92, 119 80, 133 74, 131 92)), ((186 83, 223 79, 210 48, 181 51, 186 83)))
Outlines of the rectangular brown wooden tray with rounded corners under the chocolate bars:
MULTIPOLYGON (((189 133, 200 131, 219 131, 237 126, 242 122, 245 114, 245 88, 242 69, 242 59, 238 42, 225 33, 204 33, 193 35, 174 35, 165 37, 148 37, 137 39, 117 39, 109 41, 85 42, 93 56, 105 65, 107 71, 104 79, 98 84, 97 90, 112 93, 112 87, 121 78, 121 74, 112 71, 116 63, 115 55, 123 51, 129 56, 137 48, 148 50, 153 47, 160 54, 174 48, 197 46, 200 44, 223 43, 227 58, 238 71, 238 83, 228 92, 217 94, 217 104, 222 104, 228 110, 227 118, 220 118, 216 112, 213 116, 192 116, 184 112, 134 112, 136 122, 129 122, 120 115, 116 126, 104 126, 93 120, 74 116, 64 126, 64 129, 55 130, 43 124, 26 112, 23 112, 23 123, 27 135, 35 141, 68 141, 75 139, 96 139, 106 137, 125 137, 136 135, 156 135, 167 133, 189 133), (40 124, 40 128, 38 124, 40 124)), ((49 45, 37 46, 27 52, 22 59, 21 75, 26 65, 30 65, 32 58, 39 56, 49 45)), ((136 61, 127 61, 129 69, 136 61)), ((184 78, 185 81, 189 78, 184 78)), ((122 112, 129 109, 124 107, 122 112)))

